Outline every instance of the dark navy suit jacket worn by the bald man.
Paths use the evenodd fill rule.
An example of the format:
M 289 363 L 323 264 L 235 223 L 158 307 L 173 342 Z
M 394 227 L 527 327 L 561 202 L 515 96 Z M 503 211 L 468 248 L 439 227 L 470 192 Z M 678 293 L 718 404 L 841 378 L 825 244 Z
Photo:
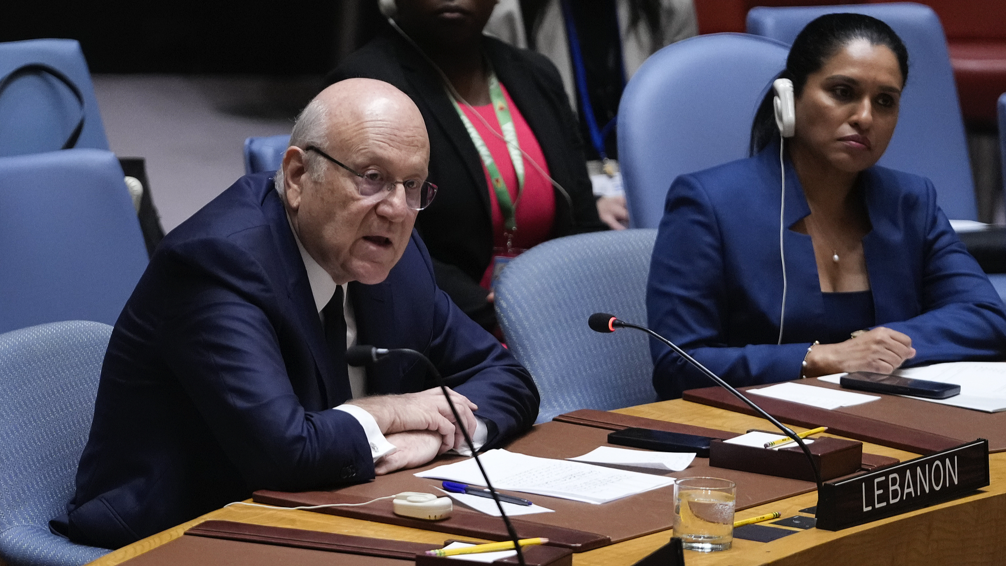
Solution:
M 438 289 L 414 232 L 385 281 L 349 293 L 358 343 L 430 357 L 479 406 L 488 445 L 534 422 L 527 371 Z M 116 322 L 76 494 L 53 528 L 118 548 L 255 489 L 372 478 L 362 427 L 331 410 L 349 391 L 326 395 L 333 371 L 272 173 L 242 177 L 165 238 Z M 367 378 L 378 394 L 435 386 L 404 357 Z

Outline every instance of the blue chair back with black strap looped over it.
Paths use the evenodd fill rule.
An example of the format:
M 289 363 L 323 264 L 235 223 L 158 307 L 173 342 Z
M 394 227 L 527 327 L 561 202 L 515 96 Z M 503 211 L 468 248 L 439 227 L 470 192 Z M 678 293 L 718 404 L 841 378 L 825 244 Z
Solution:
M 81 110 L 83 126 L 75 147 L 109 149 L 80 44 L 73 39 L 0 43 L 0 80 L 32 63 L 62 74 L 79 91 L 82 109 L 73 91 L 52 75 L 34 70 L 17 76 L 0 92 L 0 156 L 62 148 Z

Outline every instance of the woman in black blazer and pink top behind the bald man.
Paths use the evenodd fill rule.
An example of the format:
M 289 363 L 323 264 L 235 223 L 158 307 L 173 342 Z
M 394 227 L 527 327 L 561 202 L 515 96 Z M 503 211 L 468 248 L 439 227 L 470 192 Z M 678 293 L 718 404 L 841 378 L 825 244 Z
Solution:
M 396 26 L 328 77 L 385 81 L 415 101 L 430 135 L 429 179 L 439 186 L 415 227 L 438 285 L 489 329 L 496 326 L 489 281 L 503 258 L 544 240 L 605 229 L 558 72 L 538 53 L 482 34 L 495 4 L 396 0 Z M 500 124 L 511 119 L 516 134 L 507 137 Z M 487 151 L 491 166 L 482 157 Z M 492 191 L 490 176 L 502 177 Z

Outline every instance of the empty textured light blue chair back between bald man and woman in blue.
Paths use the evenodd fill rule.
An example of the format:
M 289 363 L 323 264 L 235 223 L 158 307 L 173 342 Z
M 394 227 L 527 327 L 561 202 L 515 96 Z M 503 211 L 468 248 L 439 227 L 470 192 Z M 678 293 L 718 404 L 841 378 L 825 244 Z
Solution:
M 657 401 L 646 335 L 599 334 L 586 325 L 595 312 L 645 323 L 656 237 L 656 230 L 626 230 L 559 238 L 500 274 L 497 317 L 510 351 L 538 386 L 538 422 Z

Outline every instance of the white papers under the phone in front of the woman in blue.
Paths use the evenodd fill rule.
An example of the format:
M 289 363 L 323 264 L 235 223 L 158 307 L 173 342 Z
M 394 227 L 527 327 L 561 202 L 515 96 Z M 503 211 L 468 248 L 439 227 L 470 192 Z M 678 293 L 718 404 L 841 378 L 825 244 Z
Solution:
M 841 385 L 845 374 L 821 376 L 823 382 Z M 1006 363 L 1003 362 L 953 362 L 934 364 L 924 368 L 897 370 L 895 376 L 912 380 L 926 380 L 961 386 L 961 394 L 950 399 L 911 397 L 941 405 L 952 405 L 986 413 L 1006 411 Z M 910 397 L 910 396 L 904 396 Z

